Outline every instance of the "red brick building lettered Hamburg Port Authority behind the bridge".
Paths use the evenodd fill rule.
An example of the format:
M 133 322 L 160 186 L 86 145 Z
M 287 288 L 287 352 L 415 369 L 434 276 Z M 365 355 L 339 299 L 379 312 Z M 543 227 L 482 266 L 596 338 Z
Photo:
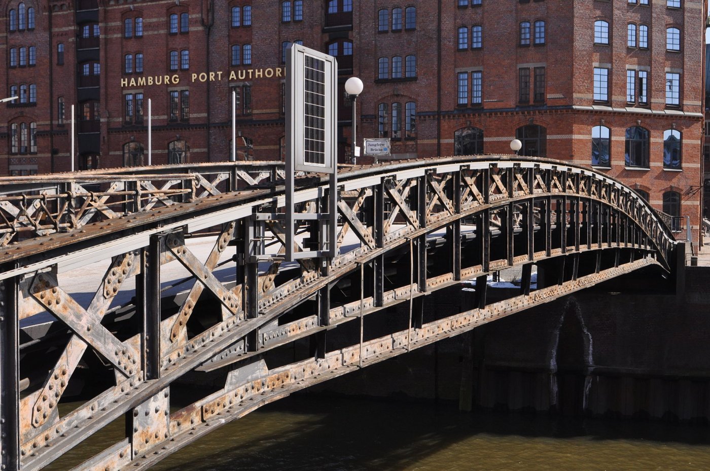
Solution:
M 392 158 L 520 153 L 591 165 L 699 225 L 704 0 L 10 0 L 0 174 L 278 159 L 284 51 L 356 75 L 359 135 Z M 349 100 L 339 152 L 349 161 Z

